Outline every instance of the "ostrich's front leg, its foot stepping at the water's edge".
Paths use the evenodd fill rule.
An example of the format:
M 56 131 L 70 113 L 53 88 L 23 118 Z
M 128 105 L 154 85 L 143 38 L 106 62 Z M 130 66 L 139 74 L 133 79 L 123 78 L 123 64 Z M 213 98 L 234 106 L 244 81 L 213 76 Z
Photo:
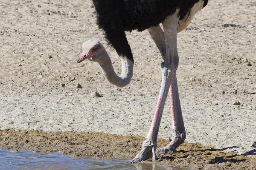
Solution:
M 157 108 L 154 114 L 153 121 L 151 123 L 150 130 L 148 132 L 145 141 L 142 144 L 142 150 L 135 156 L 130 163 L 137 163 L 143 160 L 147 160 L 152 156 L 152 159 L 157 160 L 156 156 L 156 147 L 157 147 L 157 135 L 159 131 L 159 126 L 163 114 L 163 108 L 166 102 L 166 97 L 168 90 L 170 88 L 172 79 L 175 77 L 175 71 L 178 66 L 178 57 L 177 57 L 177 26 L 179 22 L 179 17 L 177 13 L 169 16 L 163 22 L 164 28 L 164 38 L 166 40 L 166 51 L 165 56 L 163 57 L 164 62 L 161 63 L 162 71 L 162 83 L 160 88 L 160 94 L 158 97 Z M 152 28 L 160 30 L 159 27 Z M 151 31 L 151 30 L 149 30 Z M 159 34 L 162 36 L 162 34 Z M 163 39 L 163 38 L 160 38 Z M 160 42 L 159 40 L 157 42 Z M 162 44 L 163 45 L 163 44 Z M 163 51 L 161 52 L 161 54 Z M 176 94 L 176 93 L 175 93 Z

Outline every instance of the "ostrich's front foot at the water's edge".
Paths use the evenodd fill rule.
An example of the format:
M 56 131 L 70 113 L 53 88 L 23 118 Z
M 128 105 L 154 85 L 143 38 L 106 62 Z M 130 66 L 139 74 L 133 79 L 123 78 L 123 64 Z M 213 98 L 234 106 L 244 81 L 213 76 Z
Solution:
M 142 149 L 137 153 L 135 158 L 130 161 L 130 164 L 136 164 L 150 159 L 151 157 L 154 161 L 157 160 L 156 143 L 146 139 L 142 144 Z

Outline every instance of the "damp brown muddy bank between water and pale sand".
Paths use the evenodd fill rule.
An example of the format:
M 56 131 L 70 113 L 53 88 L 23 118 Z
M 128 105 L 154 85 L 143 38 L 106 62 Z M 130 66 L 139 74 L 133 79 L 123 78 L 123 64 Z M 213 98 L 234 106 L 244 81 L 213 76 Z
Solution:
M 67 153 L 71 156 L 95 156 L 102 159 L 132 159 L 140 150 L 143 137 L 121 136 L 92 132 L 42 132 L 36 130 L 0 130 L 3 149 L 33 150 L 36 152 Z M 169 141 L 158 140 L 158 146 Z M 223 153 L 221 150 L 198 143 L 182 144 L 177 153 L 159 155 L 158 162 L 192 169 L 256 170 L 256 156 Z M 149 160 L 150 161 L 150 160 Z

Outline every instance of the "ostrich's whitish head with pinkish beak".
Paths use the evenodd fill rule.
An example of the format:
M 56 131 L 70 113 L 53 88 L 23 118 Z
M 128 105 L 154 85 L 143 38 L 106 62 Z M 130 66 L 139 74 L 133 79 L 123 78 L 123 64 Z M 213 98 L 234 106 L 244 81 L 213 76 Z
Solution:
M 102 60 L 104 51 L 105 49 L 99 42 L 99 39 L 93 38 L 91 40 L 85 41 L 82 45 L 82 54 L 77 62 L 82 62 L 84 59 L 99 62 Z

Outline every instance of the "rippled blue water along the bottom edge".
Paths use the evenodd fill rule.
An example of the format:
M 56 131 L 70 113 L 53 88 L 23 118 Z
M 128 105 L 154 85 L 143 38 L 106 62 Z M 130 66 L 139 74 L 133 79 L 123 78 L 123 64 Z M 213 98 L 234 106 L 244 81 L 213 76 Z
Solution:
M 71 158 L 61 153 L 33 153 L 21 150 L 0 150 L 0 170 L 184 170 L 170 165 L 140 163 L 131 165 L 127 160 Z

